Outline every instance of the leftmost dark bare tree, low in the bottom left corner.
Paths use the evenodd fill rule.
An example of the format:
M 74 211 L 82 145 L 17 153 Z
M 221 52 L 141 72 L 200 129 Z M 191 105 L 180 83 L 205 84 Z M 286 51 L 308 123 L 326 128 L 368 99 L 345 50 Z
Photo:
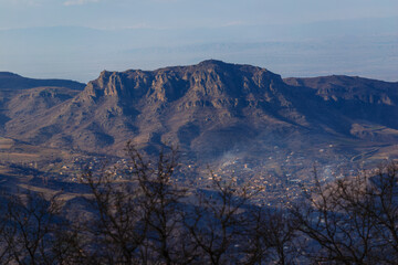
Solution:
M 61 258 L 53 248 L 54 231 L 60 226 L 57 194 L 45 198 L 28 191 L 7 198 L 1 234 L 11 264 L 55 264 Z

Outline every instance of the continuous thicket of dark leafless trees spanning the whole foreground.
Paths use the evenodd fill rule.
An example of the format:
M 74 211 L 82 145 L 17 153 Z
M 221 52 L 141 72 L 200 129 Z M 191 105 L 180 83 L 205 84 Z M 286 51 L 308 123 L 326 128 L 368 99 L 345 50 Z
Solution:
M 3 195 L 0 263 L 398 264 L 397 163 L 324 184 L 315 172 L 293 206 L 262 208 L 260 189 L 212 172 L 209 189 L 177 186 L 174 148 L 155 162 L 126 150 L 129 162 L 84 171 L 84 210 L 59 194 Z

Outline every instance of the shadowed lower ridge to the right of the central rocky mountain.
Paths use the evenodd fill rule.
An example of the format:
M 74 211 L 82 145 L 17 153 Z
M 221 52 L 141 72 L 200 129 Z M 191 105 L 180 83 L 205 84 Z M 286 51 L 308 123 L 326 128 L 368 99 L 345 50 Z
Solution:
M 373 139 L 378 134 L 377 139 L 385 140 L 397 137 L 388 131 L 398 129 L 398 83 L 336 75 L 285 78 L 284 82 L 298 88 L 314 89 L 329 112 L 349 119 L 349 134 L 353 136 Z M 369 129 L 376 125 L 386 129 Z

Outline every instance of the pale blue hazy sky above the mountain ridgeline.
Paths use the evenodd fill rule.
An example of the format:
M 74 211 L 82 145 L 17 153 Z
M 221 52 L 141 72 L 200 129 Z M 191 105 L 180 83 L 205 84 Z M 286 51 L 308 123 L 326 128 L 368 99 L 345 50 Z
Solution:
M 88 82 L 207 59 L 398 81 L 398 1 L 0 0 L 0 71 Z

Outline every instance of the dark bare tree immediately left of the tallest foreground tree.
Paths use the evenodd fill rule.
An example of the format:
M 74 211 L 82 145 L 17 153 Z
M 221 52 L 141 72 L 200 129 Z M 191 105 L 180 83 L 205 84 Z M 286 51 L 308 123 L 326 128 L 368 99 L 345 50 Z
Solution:
M 81 248 L 96 264 L 136 264 L 147 236 L 137 184 L 130 174 L 118 177 L 105 170 L 95 176 L 88 170 L 82 178 L 90 187 L 93 208 L 83 229 L 91 241 Z

